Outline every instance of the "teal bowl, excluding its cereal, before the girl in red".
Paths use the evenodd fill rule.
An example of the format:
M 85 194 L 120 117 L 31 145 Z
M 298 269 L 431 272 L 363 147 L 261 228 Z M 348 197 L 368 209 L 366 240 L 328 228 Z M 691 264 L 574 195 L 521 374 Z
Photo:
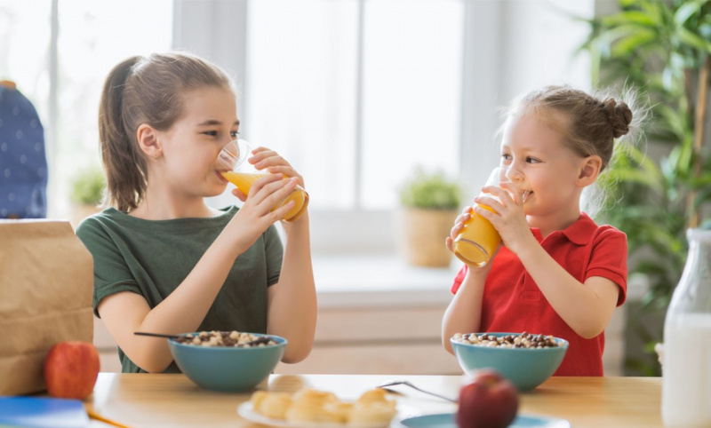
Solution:
M 488 336 L 521 336 L 518 333 L 486 333 Z M 531 391 L 555 373 L 568 351 L 568 341 L 555 337 L 558 346 L 549 348 L 504 348 L 471 345 L 450 339 L 459 366 L 474 375 L 478 369 L 495 369 L 519 391 Z

